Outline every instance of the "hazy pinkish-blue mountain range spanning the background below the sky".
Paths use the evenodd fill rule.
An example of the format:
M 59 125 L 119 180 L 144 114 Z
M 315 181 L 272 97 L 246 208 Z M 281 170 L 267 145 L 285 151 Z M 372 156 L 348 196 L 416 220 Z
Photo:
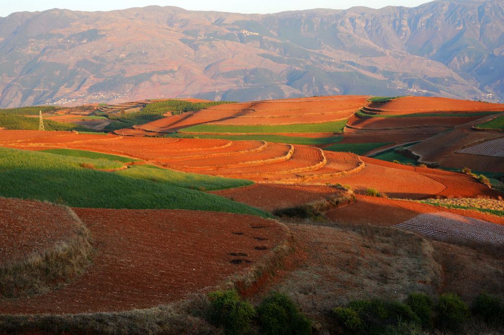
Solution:
M 504 102 L 504 0 L 14 13 L 0 18 L 0 92 L 0 107 L 340 94 Z

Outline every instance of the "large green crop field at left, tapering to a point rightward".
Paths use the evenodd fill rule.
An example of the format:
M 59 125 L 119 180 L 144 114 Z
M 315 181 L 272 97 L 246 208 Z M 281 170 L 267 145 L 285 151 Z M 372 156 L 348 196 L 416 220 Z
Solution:
M 213 194 L 174 186 L 169 180 L 155 182 L 87 169 L 81 167 L 82 162 L 95 166 L 101 163 L 118 164 L 105 159 L 0 148 L 0 196 L 47 200 L 73 207 L 191 209 L 270 217 L 270 214 L 260 209 Z M 212 180 L 214 178 L 211 177 Z M 223 182 L 229 186 L 229 181 Z M 198 181 L 195 181 L 194 187 L 199 186 Z

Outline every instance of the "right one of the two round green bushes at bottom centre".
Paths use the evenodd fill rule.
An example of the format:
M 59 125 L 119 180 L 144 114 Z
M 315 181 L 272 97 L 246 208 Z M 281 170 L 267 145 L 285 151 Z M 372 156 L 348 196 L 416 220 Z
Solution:
M 310 334 L 311 320 L 297 309 L 287 295 L 272 293 L 257 308 L 264 334 Z

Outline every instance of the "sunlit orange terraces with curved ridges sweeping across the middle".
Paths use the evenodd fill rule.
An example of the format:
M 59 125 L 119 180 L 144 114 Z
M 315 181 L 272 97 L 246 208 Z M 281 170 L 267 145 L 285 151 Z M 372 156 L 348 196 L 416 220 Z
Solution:
M 353 153 L 323 151 L 316 147 L 224 139 L 139 138 L 74 133 L 46 133 L 45 137 L 38 137 L 39 134 L 22 131 L 16 134 L 19 139 L 15 139 L 16 136 L 10 131 L 0 132 L 0 145 L 30 150 L 68 148 L 118 154 L 163 168 L 260 183 L 339 183 L 348 184 L 361 193 L 372 187 L 389 196 L 413 199 L 435 195 L 498 195 L 463 174 L 432 169 L 417 171 L 410 166 L 361 158 Z

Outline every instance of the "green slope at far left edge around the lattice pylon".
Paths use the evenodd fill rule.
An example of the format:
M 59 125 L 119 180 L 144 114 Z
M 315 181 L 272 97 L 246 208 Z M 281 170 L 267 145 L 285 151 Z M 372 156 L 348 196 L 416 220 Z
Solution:
M 38 130 L 38 118 L 36 117 L 26 117 L 22 115 L 14 115 L 14 114 L 2 114 L 0 113 L 0 127 L 6 129 L 27 129 L 27 130 Z M 44 120 L 44 128 L 45 130 L 78 130 L 78 131 L 86 131 L 89 130 L 86 127 L 56 122 L 51 120 Z

